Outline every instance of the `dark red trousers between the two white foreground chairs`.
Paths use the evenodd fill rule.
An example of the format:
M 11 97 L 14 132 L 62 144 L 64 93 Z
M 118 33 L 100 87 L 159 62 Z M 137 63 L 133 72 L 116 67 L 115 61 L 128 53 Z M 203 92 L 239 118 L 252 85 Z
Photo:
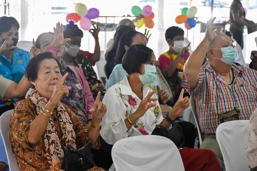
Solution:
M 211 150 L 184 147 L 179 150 L 185 171 L 222 171 Z

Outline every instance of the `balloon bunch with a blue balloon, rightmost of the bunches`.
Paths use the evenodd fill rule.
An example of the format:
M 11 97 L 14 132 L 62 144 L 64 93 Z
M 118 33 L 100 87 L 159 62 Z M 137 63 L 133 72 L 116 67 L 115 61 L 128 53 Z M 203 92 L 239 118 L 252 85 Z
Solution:
M 197 13 L 196 7 L 182 8 L 181 15 L 177 16 L 175 18 L 175 21 L 177 24 L 185 23 L 186 29 L 190 30 L 191 28 L 195 27 L 197 24 L 197 21 L 194 19 L 194 16 L 196 13 Z

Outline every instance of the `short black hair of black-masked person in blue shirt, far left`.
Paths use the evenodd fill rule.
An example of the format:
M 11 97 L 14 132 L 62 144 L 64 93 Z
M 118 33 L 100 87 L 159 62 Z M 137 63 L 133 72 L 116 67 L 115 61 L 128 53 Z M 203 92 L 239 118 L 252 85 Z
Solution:
M 14 17 L 2 16 L 0 17 L 0 23 L 0 34 L 9 31 L 12 25 L 18 29 L 20 28 L 20 24 Z

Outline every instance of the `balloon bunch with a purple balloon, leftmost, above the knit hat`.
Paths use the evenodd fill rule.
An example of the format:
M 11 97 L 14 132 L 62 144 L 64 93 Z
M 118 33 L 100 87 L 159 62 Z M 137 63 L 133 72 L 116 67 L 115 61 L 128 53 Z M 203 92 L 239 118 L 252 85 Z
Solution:
M 74 23 L 80 21 L 80 27 L 83 30 L 89 30 L 91 27 L 90 19 L 99 17 L 99 11 L 96 8 L 90 8 L 87 10 L 86 5 L 77 3 L 75 6 L 76 13 L 70 13 L 66 16 L 67 23 L 69 20 L 73 20 Z

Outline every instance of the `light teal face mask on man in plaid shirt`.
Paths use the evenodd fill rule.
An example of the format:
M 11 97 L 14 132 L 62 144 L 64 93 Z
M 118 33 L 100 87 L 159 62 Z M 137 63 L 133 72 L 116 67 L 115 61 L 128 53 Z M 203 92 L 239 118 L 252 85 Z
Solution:
M 214 48 L 212 48 L 214 49 Z M 236 59 L 236 51 L 232 46 L 220 48 L 222 52 L 222 58 L 216 58 L 220 59 L 221 61 L 225 62 L 228 65 L 232 65 L 233 62 L 235 62 Z M 215 58 L 215 57 L 213 57 Z

